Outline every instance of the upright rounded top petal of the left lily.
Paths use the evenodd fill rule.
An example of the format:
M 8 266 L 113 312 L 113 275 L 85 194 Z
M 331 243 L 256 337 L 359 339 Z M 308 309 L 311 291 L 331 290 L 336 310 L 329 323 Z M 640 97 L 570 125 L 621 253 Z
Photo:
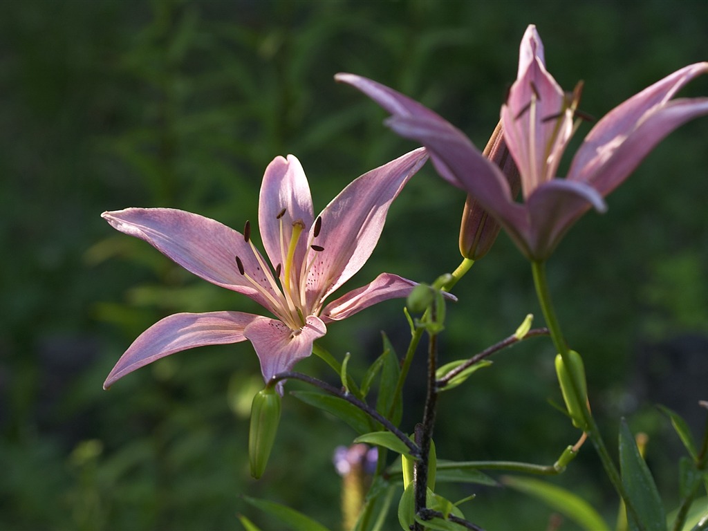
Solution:
M 285 214 L 277 219 L 282 209 L 285 209 Z M 307 234 L 313 219 L 312 195 L 300 161 L 293 155 L 288 155 L 287 160 L 282 156 L 275 157 L 265 169 L 258 202 L 258 229 L 273 267 L 279 263 L 285 265 L 293 222 L 302 221 L 306 229 L 304 233 Z M 306 249 L 307 238 L 302 237 L 297 242 L 295 263 L 302 263 Z

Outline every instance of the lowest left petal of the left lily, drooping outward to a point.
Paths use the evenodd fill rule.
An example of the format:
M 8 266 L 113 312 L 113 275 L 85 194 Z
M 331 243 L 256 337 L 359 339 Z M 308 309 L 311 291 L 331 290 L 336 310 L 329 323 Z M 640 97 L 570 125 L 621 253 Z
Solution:
M 174 314 L 141 333 L 120 357 L 103 389 L 144 365 L 189 348 L 246 341 L 244 329 L 259 316 L 243 312 Z

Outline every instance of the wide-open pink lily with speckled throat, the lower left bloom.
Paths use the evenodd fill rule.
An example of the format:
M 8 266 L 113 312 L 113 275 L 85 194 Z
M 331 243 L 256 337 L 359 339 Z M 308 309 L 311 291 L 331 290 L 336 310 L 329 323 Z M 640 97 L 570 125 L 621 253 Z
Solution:
M 275 318 L 244 312 L 175 314 L 144 331 L 103 384 L 167 355 L 205 345 L 249 340 L 266 382 L 312 353 L 326 324 L 395 297 L 415 282 L 382 273 L 373 282 L 324 305 L 371 256 L 389 205 L 428 158 L 419 148 L 369 171 L 314 217 L 307 178 L 295 156 L 276 157 L 261 185 L 258 225 L 270 264 L 243 234 L 213 219 L 168 208 L 104 212 L 115 229 L 147 241 L 212 284 L 250 297 Z M 282 385 L 280 385 L 282 391 Z

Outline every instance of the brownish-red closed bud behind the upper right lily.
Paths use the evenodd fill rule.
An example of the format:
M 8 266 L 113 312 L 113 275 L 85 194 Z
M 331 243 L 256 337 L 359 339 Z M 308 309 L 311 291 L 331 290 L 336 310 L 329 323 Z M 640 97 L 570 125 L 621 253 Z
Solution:
M 516 197 L 521 188 L 521 178 L 506 147 L 501 121 L 491 134 L 482 154 L 499 166 L 510 185 L 512 197 Z M 500 228 L 496 219 L 493 219 L 472 195 L 467 195 L 459 228 L 459 252 L 464 258 L 479 260 L 491 249 Z

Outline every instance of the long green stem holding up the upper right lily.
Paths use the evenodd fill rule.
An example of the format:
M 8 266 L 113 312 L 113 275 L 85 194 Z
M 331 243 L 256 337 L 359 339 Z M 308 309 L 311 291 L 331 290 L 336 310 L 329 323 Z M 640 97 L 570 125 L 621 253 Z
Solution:
M 551 296 L 548 290 L 548 282 L 546 280 L 545 263 L 532 262 L 531 268 L 533 272 L 533 280 L 536 286 L 538 302 L 541 305 L 543 316 L 546 319 L 546 324 L 551 333 L 551 338 L 553 339 L 553 344 L 556 347 L 556 351 L 561 355 L 561 358 L 563 358 L 563 362 L 566 366 L 569 366 L 569 348 L 563 337 L 563 333 L 561 332 L 561 326 L 558 318 L 556 317 L 556 312 L 551 301 Z M 579 392 L 580 390 L 577 389 L 574 379 L 571 379 L 571 388 L 573 393 L 576 395 L 576 401 L 578 401 L 579 404 L 584 404 L 585 398 L 581 397 Z M 595 451 L 597 451 L 600 456 L 600 461 L 603 463 L 607 477 L 610 478 L 612 485 L 615 486 L 615 490 L 617 490 L 619 497 L 624 500 L 625 506 L 627 507 L 629 513 L 634 515 L 634 520 L 637 522 L 641 521 L 639 518 L 636 518 L 636 509 L 634 508 L 632 501 L 629 499 L 629 496 L 627 496 L 627 491 L 624 490 L 622 479 L 619 476 L 615 463 L 612 462 L 610 452 L 607 451 L 605 441 L 603 441 L 602 434 L 600 433 L 600 428 L 598 428 L 597 423 L 595 423 L 595 418 L 593 418 L 590 410 L 586 406 L 584 406 L 581 411 L 583 413 L 583 420 L 585 421 L 587 427 L 586 433 L 588 433 L 588 437 L 593 442 Z

